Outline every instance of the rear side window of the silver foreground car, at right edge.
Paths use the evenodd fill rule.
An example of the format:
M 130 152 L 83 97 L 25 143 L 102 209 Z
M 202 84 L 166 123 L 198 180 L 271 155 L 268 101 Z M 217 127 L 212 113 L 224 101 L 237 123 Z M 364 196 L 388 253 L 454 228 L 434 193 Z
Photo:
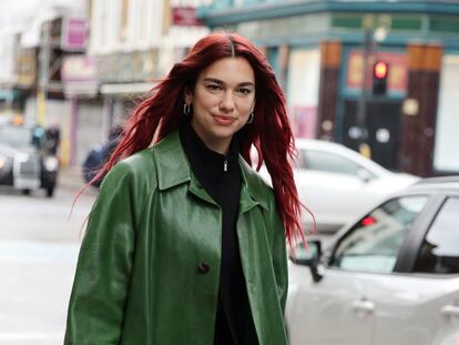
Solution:
M 419 251 L 415 272 L 459 273 L 459 197 L 449 197 L 435 217 Z

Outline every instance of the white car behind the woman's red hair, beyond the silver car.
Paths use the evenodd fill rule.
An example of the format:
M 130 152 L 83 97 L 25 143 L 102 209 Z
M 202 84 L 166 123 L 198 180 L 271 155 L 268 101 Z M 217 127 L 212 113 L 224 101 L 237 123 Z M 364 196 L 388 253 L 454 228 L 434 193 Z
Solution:
M 317 230 L 334 233 L 384 196 L 419 180 L 388 171 L 338 143 L 297 139 L 298 160 L 294 169 L 299 199 L 316 217 Z M 262 176 L 271 183 L 266 168 Z M 310 229 L 312 217 L 303 212 Z

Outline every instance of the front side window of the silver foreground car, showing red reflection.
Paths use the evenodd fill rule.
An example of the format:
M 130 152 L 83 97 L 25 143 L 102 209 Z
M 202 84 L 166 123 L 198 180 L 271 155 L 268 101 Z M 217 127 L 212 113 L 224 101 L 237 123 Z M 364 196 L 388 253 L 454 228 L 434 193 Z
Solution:
M 344 271 L 392 272 L 405 236 L 427 199 L 402 196 L 375 209 L 339 241 L 330 266 Z

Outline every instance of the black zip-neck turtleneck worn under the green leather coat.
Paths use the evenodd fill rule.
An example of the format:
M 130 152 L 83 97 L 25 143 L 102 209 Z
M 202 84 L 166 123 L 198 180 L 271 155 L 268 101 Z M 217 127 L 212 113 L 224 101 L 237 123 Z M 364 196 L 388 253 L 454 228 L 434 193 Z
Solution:
M 208 149 L 190 123 L 181 126 L 180 138 L 194 175 L 222 209 L 222 262 L 214 345 L 257 344 L 236 233 L 242 183 L 237 136 L 233 136 L 226 156 Z

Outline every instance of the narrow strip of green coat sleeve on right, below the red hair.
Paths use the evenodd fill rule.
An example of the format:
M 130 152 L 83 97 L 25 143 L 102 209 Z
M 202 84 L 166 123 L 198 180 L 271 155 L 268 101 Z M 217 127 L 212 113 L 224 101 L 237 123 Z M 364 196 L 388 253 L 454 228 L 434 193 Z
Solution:
M 273 224 L 273 267 L 277 283 L 277 296 L 284 315 L 288 292 L 287 247 L 284 223 L 275 206 L 274 195 L 271 206 L 271 224 Z

